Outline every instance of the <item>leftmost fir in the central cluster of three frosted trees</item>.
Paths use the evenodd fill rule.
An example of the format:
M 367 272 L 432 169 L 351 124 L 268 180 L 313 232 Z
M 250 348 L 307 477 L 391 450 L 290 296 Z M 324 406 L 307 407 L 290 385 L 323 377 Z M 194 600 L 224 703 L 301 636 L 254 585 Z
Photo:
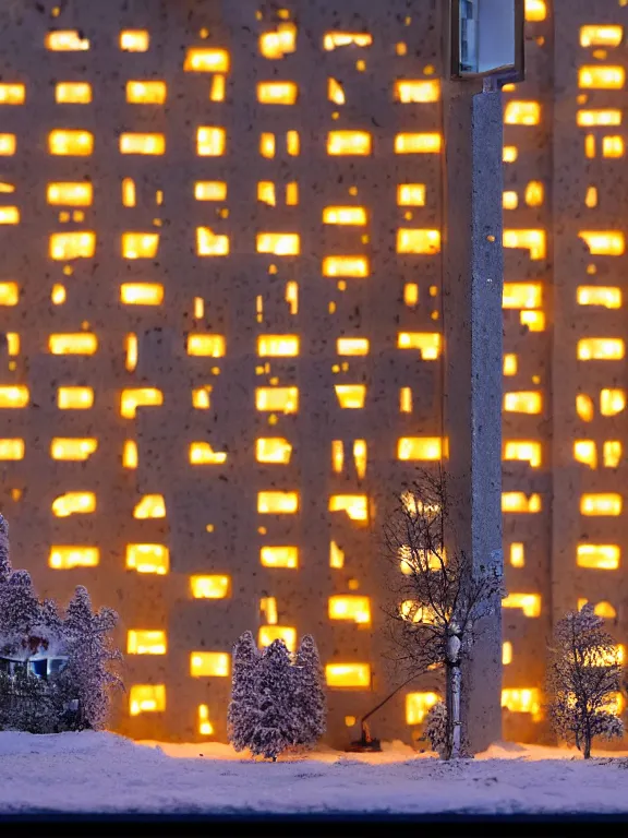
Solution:
M 259 651 L 251 632 L 244 632 L 233 646 L 231 702 L 227 711 L 227 733 L 235 751 L 250 749 L 258 715 L 256 668 Z

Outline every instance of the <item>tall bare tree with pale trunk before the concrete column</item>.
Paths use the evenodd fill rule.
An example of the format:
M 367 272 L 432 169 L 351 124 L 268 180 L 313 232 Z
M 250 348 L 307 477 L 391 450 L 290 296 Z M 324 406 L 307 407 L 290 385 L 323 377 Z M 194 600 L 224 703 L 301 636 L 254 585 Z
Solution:
M 385 556 L 396 566 L 388 609 L 394 656 L 416 675 L 445 670 L 447 737 L 443 757 L 462 752 L 462 662 L 478 637 L 478 621 L 500 607 L 502 574 L 474 566 L 458 549 L 447 476 L 421 471 L 384 525 Z

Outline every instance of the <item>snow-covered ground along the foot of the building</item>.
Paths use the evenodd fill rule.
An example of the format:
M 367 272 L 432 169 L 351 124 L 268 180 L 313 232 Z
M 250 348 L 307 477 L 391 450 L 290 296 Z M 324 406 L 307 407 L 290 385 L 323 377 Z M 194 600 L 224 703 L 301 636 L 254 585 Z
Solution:
M 444 764 L 399 743 L 278 763 L 227 745 L 0 732 L 0 813 L 628 813 L 628 755 L 503 744 Z

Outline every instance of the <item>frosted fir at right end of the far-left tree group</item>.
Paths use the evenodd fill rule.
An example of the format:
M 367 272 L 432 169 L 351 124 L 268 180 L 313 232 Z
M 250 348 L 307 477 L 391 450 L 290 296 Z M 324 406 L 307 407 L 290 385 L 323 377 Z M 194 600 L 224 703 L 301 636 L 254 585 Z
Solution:
M 120 678 L 111 671 L 111 662 L 121 660 L 114 648 L 111 632 L 118 614 L 110 608 L 92 610 L 87 589 L 78 585 L 68 604 L 63 634 L 68 648 L 68 675 L 76 691 L 80 726 L 98 730 L 109 711 L 110 692 L 122 686 Z

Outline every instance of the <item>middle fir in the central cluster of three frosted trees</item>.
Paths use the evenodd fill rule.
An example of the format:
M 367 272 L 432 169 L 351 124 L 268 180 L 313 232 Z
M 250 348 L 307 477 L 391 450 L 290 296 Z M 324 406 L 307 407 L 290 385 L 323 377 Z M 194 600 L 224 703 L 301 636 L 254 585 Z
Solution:
M 299 720 L 293 702 L 290 655 L 283 641 L 273 641 L 256 667 L 257 718 L 251 751 L 276 762 L 297 741 Z

